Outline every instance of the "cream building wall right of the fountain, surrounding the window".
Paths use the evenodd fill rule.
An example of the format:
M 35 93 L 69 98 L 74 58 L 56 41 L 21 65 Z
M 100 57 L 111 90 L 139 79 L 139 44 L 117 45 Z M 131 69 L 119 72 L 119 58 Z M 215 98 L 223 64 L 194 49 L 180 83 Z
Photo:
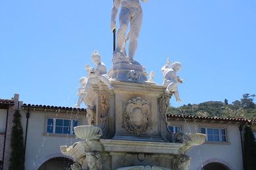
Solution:
M 191 170 L 200 169 L 210 162 L 223 163 L 232 170 L 243 169 L 242 146 L 240 141 L 239 125 L 214 124 L 214 123 L 191 123 L 184 121 L 173 121 L 173 125 L 181 125 L 182 130 L 188 133 L 200 133 L 200 127 L 223 127 L 226 128 L 227 143 L 205 142 L 200 146 L 194 146 L 188 155 L 192 157 Z

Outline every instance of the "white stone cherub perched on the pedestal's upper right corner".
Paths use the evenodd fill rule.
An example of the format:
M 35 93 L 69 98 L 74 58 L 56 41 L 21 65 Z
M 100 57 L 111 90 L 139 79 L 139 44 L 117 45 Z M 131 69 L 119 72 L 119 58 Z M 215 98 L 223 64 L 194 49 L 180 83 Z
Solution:
M 165 92 L 174 92 L 176 101 L 178 102 L 182 101 L 179 97 L 178 84 L 182 83 L 183 80 L 177 76 L 180 70 L 181 63 L 171 63 L 169 59 L 167 59 L 167 63 L 161 68 L 161 72 L 163 73 L 163 86 L 166 87 Z

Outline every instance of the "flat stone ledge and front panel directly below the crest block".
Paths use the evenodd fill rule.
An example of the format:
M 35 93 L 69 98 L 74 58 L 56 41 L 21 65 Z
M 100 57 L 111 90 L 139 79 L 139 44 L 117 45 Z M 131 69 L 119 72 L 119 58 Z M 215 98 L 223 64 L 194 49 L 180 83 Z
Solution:
M 142 141 L 121 141 L 100 139 L 104 152 L 108 153 L 110 167 L 103 169 L 117 169 L 135 165 L 150 165 L 173 169 L 175 155 L 184 144 L 155 143 Z M 104 160 L 104 158 L 102 158 Z M 106 161 L 107 162 L 107 161 Z

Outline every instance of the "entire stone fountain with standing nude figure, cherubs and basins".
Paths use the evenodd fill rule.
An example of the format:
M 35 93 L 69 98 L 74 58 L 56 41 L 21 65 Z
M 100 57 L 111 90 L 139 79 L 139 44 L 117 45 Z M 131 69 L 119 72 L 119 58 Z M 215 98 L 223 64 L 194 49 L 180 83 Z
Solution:
M 148 78 L 146 69 L 133 59 L 142 22 L 139 0 L 114 1 L 112 29 L 116 29 L 114 20 L 120 5 L 114 64 L 107 73 L 95 51 L 95 68 L 85 65 L 87 77 L 80 78 L 75 107 L 81 103 L 87 106 L 87 125 L 74 127 L 81 141 L 60 146 L 60 151 L 74 160 L 72 170 L 188 170 L 188 150 L 203 144 L 206 135 L 167 130 L 169 101 L 173 95 L 181 101 L 177 88 L 183 82 L 177 76 L 181 63 L 167 59 L 161 68 L 161 86 L 154 82 L 153 71 Z M 125 35 L 129 22 L 131 30 Z M 128 40 L 129 56 L 125 50 Z

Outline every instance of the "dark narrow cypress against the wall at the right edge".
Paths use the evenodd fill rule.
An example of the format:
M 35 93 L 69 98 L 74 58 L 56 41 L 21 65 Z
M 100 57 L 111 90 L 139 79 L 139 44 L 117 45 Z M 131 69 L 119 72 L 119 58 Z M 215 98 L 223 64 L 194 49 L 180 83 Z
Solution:
M 244 133 L 244 168 L 253 170 L 256 167 L 256 143 L 250 126 L 245 126 Z

